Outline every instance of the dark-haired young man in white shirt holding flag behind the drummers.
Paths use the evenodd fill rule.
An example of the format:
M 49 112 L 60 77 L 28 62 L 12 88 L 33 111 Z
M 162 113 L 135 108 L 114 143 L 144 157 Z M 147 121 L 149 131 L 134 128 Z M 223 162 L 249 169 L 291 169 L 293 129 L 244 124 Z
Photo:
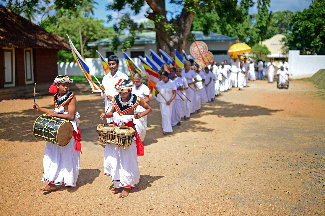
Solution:
M 103 78 L 102 85 L 99 87 L 102 90 L 101 96 L 104 98 L 105 102 L 105 112 L 110 112 L 113 107 L 113 103 L 111 102 L 112 98 L 118 94 L 115 89 L 115 84 L 120 79 L 129 79 L 129 77 L 118 70 L 119 67 L 119 58 L 116 55 L 110 55 L 108 57 L 108 67 L 110 68 L 110 72 L 106 74 Z M 107 123 L 113 121 L 113 117 L 106 118 Z

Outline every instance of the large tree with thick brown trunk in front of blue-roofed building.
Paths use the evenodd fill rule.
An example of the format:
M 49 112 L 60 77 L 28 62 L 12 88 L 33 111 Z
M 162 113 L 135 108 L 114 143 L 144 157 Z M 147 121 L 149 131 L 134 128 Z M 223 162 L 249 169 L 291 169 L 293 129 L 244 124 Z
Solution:
M 165 0 L 114 0 L 108 4 L 108 10 L 120 11 L 129 7 L 135 15 L 140 12 L 142 7 L 149 7 L 145 17 L 154 22 L 154 27 L 144 27 L 132 20 L 130 14 L 123 14 L 123 17 L 119 18 L 114 25 L 114 30 L 118 34 L 128 30 L 130 37 L 123 42 L 118 41 L 118 38 L 115 37 L 110 48 L 116 50 L 119 45 L 122 45 L 123 49 L 129 48 L 134 43 L 137 30 L 150 30 L 156 32 L 157 49 L 163 49 L 172 54 L 174 49 L 185 49 L 191 38 L 190 30 L 196 13 L 206 14 L 214 11 L 227 22 L 242 21 L 241 11 L 237 7 L 238 0 L 170 0 L 170 3 L 181 8 L 181 12 L 173 13 L 171 19 L 167 19 L 168 11 Z M 109 16 L 109 18 L 112 17 Z

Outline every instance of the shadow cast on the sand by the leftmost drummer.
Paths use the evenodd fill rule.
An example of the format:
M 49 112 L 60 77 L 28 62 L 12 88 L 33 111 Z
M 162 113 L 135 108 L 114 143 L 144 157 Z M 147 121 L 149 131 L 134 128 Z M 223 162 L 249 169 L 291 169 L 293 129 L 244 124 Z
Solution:
M 43 195 L 47 195 L 52 192 L 63 191 L 63 190 L 67 190 L 69 193 L 73 193 L 82 186 L 85 186 L 87 184 L 92 184 L 95 181 L 95 178 L 99 176 L 99 174 L 100 174 L 99 169 L 81 169 L 79 171 L 78 180 L 75 187 L 63 187 L 63 185 L 57 186 L 56 190 L 46 191 L 43 193 Z

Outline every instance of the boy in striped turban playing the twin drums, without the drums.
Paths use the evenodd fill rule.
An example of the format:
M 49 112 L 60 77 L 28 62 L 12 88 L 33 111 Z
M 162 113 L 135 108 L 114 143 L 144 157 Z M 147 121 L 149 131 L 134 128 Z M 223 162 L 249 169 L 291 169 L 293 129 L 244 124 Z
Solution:
M 139 96 L 131 93 L 133 82 L 127 79 L 120 79 L 114 86 L 118 94 L 112 97 L 113 106 L 109 113 L 102 113 L 100 119 L 113 118 L 116 126 L 134 127 L 133 119 L 139 119 L 152 111 L 152 108 Z M 137 105 L 145 110 L 136 113 Z M 114 144 L 106 144 L 104 150 L 104 174 L 112 178 L 112 193 L 119 192 L 119 197 L 127 197 L 131 187 L 139 183 L 140 171 L 138 168 L 137 155 L 144 154 L 143 144 L 136 132 L 135 139 L 129 147 L 122 148 Z

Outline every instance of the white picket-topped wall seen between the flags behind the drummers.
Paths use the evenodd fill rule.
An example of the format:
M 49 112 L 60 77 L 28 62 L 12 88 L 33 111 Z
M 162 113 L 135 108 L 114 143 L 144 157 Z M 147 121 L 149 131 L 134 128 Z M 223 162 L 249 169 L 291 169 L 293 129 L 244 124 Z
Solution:
M 136 63 L 138 67 L 144 72 L 144 67 L 141 64 L 139 58 L 132 58 L 132 60 Z M 105 71 L 103 69 L 100 58 L 85 58 L 86 64 L 90 68 L 90 73 L 95 74 L 96 76 L 104 76 Z M 125 59 L 119 59 L 119 70 L 127 75 L 130 75 L 129 69 L 126 65 Z M 83 75 L 81 70 L 79 69 L 76 62 L 61 62 L 58 63 L 58 74 L 64 74 L 67 76 L 78 76 Z

